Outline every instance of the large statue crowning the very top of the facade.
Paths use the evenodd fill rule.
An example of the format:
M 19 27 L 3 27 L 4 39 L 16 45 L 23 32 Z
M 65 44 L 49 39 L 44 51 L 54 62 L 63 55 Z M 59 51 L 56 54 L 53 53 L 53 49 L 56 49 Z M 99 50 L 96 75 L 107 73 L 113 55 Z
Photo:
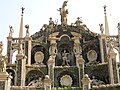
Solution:
M 64 1 L 62 8 L 59 8 L 58 11 L 60 11 L 61 15 L 61 24 L 66 25 L 67 24 L 67 14 L 68 14 L 68 9 L 65 9 L 65 6 L 67 6 L 68 1 Z

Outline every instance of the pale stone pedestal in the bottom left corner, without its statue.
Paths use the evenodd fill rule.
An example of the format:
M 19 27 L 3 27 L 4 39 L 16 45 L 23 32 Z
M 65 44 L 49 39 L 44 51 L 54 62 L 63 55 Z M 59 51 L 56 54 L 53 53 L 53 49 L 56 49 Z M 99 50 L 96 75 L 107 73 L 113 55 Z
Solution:
M 12 76 L 7 72 L 0 72 L 0 90 L 10 90 Z

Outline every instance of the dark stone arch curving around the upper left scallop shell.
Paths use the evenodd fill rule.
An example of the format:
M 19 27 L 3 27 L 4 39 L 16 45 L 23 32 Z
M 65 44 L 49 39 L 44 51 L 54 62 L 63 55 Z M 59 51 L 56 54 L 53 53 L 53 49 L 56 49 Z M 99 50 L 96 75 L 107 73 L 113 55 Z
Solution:
M 32 48 L 31 50 L 31 64 L 34 64 L 35 63 L 35 59 L 34 59 L 34 56 L 35 56 L 35 53 L 38 52 L 38 51 L 41 51 L 43 54 L 44 54 L 44 59 L 43 59 L 43 64 L 47 65 L 47 60 L 48 60 L 48 56 L 49 56 L 49 52 L 48 50 L 42 46 L 42 45 L 36 45 Z

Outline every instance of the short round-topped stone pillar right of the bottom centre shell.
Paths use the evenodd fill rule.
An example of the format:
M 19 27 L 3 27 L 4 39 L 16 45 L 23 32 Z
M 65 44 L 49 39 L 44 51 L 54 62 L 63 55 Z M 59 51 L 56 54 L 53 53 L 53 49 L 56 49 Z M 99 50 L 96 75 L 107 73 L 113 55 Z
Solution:
M 83 86 L 83 90 L 90 90 L 91 89 L 91 80 L 88 77 L 87 74 L 85 74 L 82 78 L 82 86 Z

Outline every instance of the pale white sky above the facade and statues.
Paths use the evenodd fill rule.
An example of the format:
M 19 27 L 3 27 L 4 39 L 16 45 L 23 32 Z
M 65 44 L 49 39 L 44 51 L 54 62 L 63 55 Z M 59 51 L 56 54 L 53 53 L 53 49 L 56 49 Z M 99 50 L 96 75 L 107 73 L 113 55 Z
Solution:
M 13 26 L 14 37 L 19 35 L 21 7 L 24 7 L 24 25 L 29 24 L 30 34 L 39 31 L 43 24 L 48 24 L 49 18 L 60 23 L 57 11 L 64 0 L 0 0 L 0 41 L 4 44 L 4 53 L 9 33 L 9 25 Z M 74 23 L 77 17 L 82 17 L 83 23 L 96 33 L 100 33 L 99 24 L 104 23 L 103 6 L 107 6 L 110 34 L 117 35 L 117 23 L 120 22 L 120 0 L 68 0 L 68 24 Z M 25 35 L 25 28 L 24 28 Z M 6 53 L 5 53 L 6 54 Z

